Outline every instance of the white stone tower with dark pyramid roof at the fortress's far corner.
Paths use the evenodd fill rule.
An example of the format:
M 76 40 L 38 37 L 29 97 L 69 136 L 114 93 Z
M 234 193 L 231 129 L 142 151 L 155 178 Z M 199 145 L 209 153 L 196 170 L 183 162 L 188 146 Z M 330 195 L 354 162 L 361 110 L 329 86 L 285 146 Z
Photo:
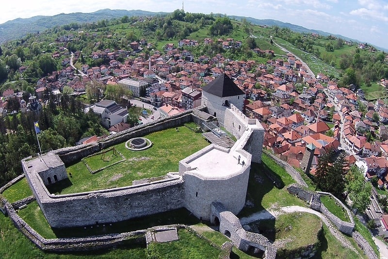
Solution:
M 224 123 L 225 110 L 230 104 L 242 111 L 244 92 L 225 73 L 202 88 L 202 105 L 210 115 Z

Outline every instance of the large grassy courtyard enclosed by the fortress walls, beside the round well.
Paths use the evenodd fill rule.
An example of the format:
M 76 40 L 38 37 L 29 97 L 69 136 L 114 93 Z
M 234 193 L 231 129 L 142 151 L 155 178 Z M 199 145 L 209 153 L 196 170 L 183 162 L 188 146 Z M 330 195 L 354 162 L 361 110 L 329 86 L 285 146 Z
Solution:
M 125 143 L 115 146 L 126 161 L 91 174 L 82 161 L 66 168 L 71 173 L 69 180 L 60 188 L 53 186 L 55 193 L 65 194 L 81 191 L 102 190 L 132 185 L 133 180 L 159 177 L 168 172 L 178 172 L 179 160 L 192 155 L 209 143 L 201 133 L 194 133 L 187 127 L 166 129 L 145 136 L 153 146 L 144 151 L 130 151 Z M 93 157 L 93 156 L 92 156 Z M 100 159 L 101 154 L 91 159 Z M 121 157 L 119 158 L 121 159 Z M 107 162 L 109 163 L 109 162 Z

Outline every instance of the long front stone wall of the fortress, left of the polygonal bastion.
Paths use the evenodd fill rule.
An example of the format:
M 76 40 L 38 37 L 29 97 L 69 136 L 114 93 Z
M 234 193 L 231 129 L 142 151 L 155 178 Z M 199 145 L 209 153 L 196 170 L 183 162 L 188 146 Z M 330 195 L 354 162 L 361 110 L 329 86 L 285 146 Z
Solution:
M 37 197 L 50 226 L 58 228 L 118 222 L 184 207 L 181 177 L 127 188 Z

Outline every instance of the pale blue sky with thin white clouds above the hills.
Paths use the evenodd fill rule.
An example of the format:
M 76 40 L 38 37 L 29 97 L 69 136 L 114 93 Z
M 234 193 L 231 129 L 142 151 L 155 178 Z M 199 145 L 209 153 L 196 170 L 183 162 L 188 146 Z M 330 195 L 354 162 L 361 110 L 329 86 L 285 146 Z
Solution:
M 19 0 L 1 5 L 0 24 L 16 18 L 100 9 L 173 12 L 181 0 Z M 184 0 L 189 13 L 275 19 L 388 49 L 388 0 Z

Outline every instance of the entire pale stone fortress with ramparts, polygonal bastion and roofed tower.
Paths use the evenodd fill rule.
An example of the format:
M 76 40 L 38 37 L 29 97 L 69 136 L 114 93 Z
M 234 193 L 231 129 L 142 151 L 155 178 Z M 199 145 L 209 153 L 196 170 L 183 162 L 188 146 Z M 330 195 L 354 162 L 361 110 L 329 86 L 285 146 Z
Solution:
M 242 90 L 224 74 L 203 87 L 203 105 L 199 109 L 136 126 L 98 143 L 23 159 L 26 179 L 49 225 L 64 228 L 112 223 L 182 207 L 198 219 L 211 222 L 215 219 L 214 207 L 220 208 L 229 213 L 225 220 L 217 218 L 223 221 L 224 228 L 231 222 L 239 222 L 234 215 L 245 205 L 250 165 L 251 162 L 261 162 L 264 137 L 264 129 L 259 121 L 243 115 L 243 97 Z M 202 125 L 209 119 L 214 120 L 214 117 L 237 138 L 234 145 L 225 148 L 210 144 L 181 160 L 179 172 L 168 173 L 162 180 L 60 195 L 51 194 L 47 189 L 51 183 L 67 178 L 65 165 L 79 161 L 82 157 L 185 122 L 194 121 Z M 230 225 L 227 231 L 233 232 L 233 227 Z M 241 233 L 244 232 L 241 224 L 239 229 Z M 259 234 L 251 234 L 264 238 Z M 243 240 L 240 235 L 235 244 L 238 247 L 242 247 L 242 244 L 246 246 Z M 254 240 L 258 239 L 249 243 L 254 244 Z M 271 246 L 268 240 L 264 243 Z M 273 247 L 255 247 L 266 251 L 266 254 L 267 250 L 271 250 L 268 258 L 275 256 Z

